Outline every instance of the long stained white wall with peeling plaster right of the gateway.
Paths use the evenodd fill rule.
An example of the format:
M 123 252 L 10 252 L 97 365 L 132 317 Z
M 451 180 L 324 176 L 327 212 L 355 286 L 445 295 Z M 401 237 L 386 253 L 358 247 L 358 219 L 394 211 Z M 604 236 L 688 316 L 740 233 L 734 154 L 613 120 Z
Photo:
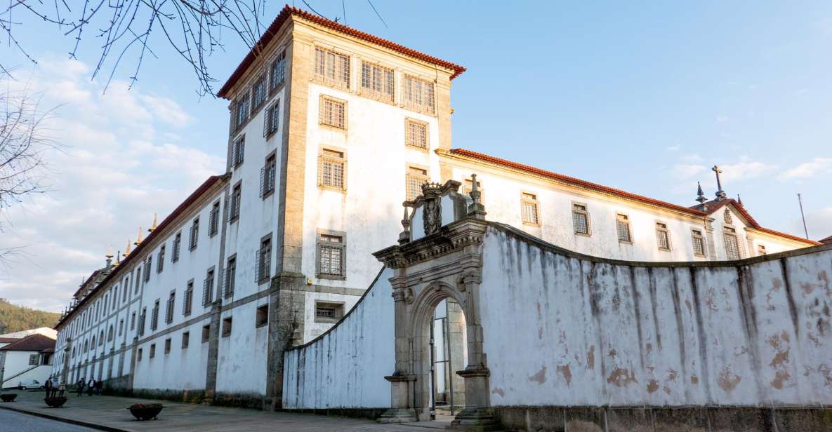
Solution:
M 492 405 L 829 405 L 832 248 L 794 255 L 646 267 L 488 228 Z

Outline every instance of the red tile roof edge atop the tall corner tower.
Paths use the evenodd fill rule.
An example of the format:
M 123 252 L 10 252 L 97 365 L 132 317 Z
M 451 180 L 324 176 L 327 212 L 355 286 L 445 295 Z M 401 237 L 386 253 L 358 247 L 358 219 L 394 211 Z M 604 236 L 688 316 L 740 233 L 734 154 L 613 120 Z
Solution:
M 344 26 L 344 24 L 339 24 L 338 22 L 330 21 L 324 17 L 319 17 L 314 13 L 306 12 L 299 7 L 291 7 L 288 4 L 283 7 L 283 10 L 275 17 L 275 21 L 271 22 L 271 25 L 265 32 L 263 32 L 263 36 L 260 37 L 260 40 L 257 41 L 255 46 L 251 48 L 251 51 L 248 55 L 243 58 L 243 61 L 240 61 L 240 65 L 234 70 L 231 76 L 228 78 L 228 81 L 225 81 L 225 84 L 220 88 L 220 91 L 217 92 L 216 96 L 218 97 L 225 97 L 227 96 L 228 91 L 231 90 L 238 80 L 245 74 L 245 71 L 248 70 L 249 66 L 260 56 L 260 53 L 263 52 L 263 49 L 269 45 L 269 42 L 277 35 L 277 32 L 280 30 L 280 27 L 283 27 L 283 23 L 286 22 L 287 19 L 290 17 L 301 17 L 307 21 L 314 22 L 320 26 L 329 27 L 330 29 L 336 32 L 342 32 L 346 35 L 356 37 L 362 39 L 367 42 L 372 42 L 376 45 L 380 45 L 382 47 L 388 48 L 392 51 L 399 52 L 404 54 L 405 56 L 411 56 L 417 60 L 426 61 L 428 63 L 432 63 L 437 66 L 442 66 L 446 69 L 450 69 L 453 71 L 453 75 L 451 75 L 451 79 L 456 78 L 457 76 L 461 75 L 465 68 L 463 66 L 459 66 L 454 64 L 450 61 L 442 60 L 441 58 L 429 56 L 423 52 L 418 52 L 414 49 L 409 47 L 404 47 L 403 45 L 399 45 L 396 42 L 388 41 L 387 39 L 383 39 L 381 37 L 373 36 L 369 33 L 362 32 L 360 30 L 356 30 L 353 27 Z

